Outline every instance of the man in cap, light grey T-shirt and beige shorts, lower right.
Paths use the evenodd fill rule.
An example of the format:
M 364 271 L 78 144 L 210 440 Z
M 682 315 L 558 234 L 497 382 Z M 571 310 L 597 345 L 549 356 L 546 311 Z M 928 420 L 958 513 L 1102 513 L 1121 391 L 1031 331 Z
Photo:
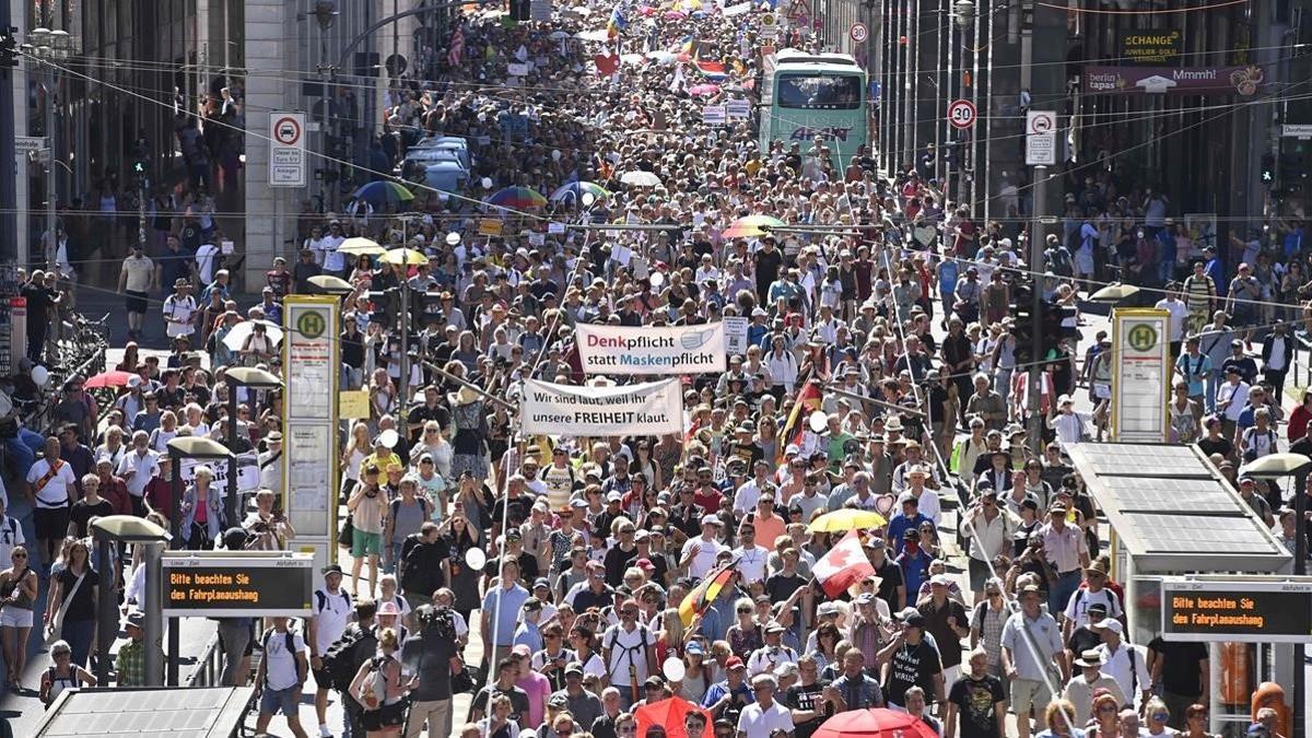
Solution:
M 1021 587 L 1019 600 L 1021 611 L 1013 613 L 1002 626 L 1002 672 L 1012 680 L 1015 729 L 1021 738 L 1029 738 L 1031 709 L 1036 730 L 1047 727 L 1043 708 L 1054 695 L 1044 678 L 1056 671 L 1061 675 L 1061 684 L 1071 678 L 1071 670 L 1061 647 L 1057 621 L 1043 612 L 1039 587 L 1025 584 Z

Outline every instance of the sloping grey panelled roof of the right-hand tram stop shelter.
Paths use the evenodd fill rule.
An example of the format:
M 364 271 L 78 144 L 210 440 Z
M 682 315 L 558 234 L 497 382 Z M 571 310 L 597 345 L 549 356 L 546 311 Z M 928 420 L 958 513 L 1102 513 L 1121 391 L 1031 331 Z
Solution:
M 1139 574 L 1279 573 L 1292 563 L 1195 446 L 1077 444 L 1069 456 Z

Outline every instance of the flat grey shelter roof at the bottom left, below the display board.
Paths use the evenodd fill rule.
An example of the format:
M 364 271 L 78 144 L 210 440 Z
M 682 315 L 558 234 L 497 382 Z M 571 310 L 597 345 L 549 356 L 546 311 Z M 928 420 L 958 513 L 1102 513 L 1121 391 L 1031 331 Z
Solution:
M 236 738 L 253 699 L 252 687 L 66 689 L 33 735 Z

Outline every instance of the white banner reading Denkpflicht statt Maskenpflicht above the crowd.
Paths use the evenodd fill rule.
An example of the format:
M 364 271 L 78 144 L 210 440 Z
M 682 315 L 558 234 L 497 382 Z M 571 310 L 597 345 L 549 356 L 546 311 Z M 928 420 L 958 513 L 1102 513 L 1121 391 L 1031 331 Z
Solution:
M 724 323 L 625 327 L 580 323 L 579 357 L 588 374 L 724 372 Z

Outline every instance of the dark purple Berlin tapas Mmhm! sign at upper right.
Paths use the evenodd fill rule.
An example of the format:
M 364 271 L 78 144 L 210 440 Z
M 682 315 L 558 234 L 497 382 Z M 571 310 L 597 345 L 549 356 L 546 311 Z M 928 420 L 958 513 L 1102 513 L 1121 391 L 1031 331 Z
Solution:
M 1262 85 L 1262 67 L 1096 67 L 1084 68 L 1092 95 L 1242 95 Z

